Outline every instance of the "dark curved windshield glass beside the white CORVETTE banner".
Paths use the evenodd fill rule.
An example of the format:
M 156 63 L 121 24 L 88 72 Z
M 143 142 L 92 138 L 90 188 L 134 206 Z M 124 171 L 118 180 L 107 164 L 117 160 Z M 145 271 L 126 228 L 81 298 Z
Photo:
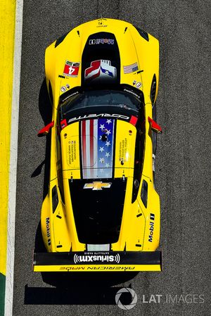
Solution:
M 70 96 L 60 105 L 60 116 L 70 115 L 70 112 L 75 110 L 86 110 L 86 108 L 101 108 L 105 107 L 117 107 L 132 112 L 139 111 L 141 107 L 141 101 L 138 96 L 129 93 L 127 91 L 110 91 L 110 90 L 95 90 L 85 91 L 83 93 Z

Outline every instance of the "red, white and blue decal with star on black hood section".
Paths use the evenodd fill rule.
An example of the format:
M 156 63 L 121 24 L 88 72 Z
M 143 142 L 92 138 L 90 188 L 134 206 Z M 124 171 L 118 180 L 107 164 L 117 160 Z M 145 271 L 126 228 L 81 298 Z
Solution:
M 94 80 L 101 78 L 102 80 L 114 80 L 117 77 L 117 68 L 111 65 L 110 61 L 98 60 L 91 61 L 89 68 L 85 69 L 84 79 Z

